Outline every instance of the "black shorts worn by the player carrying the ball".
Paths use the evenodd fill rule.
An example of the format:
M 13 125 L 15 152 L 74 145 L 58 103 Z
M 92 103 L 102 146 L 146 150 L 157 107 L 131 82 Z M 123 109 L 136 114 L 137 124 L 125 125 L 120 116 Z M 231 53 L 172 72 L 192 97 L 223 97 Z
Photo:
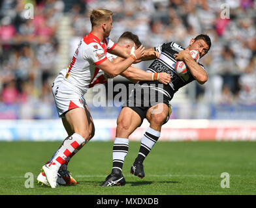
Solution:
M 127 101 L 123 104 L 123 107 L 129 107 L 140 116 L 140 125 L 142 124 L 144 118 L 146 118 L 148 109 L 157 105 L 158 103 L 165 103 L 169 107 L 169 114 L 167 116 L 167 120 L 163 124 L 167 123 L 171 113 L 169 101 L 172 98 L 173 94 L 171 98 L 166 96 L 161 92 L 161 89 L 156 90 L 158 88 L 157 85 L 156 88 L 151 87 L 150 84 L 152 83 L 155 84 L 155 81 L 140 83 L 140 86 L 135 87 Z M 147 84 L 148 86 L 145 84 Z M 159 83 L 157 82 L 157 84 Z

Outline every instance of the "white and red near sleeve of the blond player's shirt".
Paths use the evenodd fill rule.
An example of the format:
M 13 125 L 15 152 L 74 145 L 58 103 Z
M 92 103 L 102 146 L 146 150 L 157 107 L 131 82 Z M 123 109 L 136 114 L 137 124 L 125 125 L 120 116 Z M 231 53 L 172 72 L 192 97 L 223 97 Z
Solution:
M 106 60 L 106 53 L 103 47 L 97 43 L 91 43 L 84 51 L 84 59 L 91 60 L 95 65 L 99 65 Z

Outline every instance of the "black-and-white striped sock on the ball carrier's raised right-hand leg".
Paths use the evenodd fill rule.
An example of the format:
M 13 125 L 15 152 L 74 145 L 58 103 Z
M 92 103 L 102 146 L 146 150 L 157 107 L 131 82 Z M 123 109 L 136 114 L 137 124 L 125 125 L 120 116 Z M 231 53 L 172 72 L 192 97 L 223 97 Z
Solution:
M 138 157 L 135 161 L 143 162 L 153 148 L 155 142 L 157 142 L 161 131 L 155 131 L 154 129 L 148 127 L 147 131 L 141 138 L 140 150 L 138 151 Z

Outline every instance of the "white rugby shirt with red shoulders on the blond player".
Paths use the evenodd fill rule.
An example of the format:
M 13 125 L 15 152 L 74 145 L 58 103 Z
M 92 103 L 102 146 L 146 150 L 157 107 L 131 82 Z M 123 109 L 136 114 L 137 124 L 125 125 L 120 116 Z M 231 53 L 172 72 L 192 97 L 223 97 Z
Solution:
M 103 72 L 97 65 L 107 59 L 106 52 L 114 47 L 116 44 L 110 38 L 104 38 L 101 42 L 91 32 L 84 36 L 74 52 L 63 82 L 82 94 L 97 83 L 105 83 Z

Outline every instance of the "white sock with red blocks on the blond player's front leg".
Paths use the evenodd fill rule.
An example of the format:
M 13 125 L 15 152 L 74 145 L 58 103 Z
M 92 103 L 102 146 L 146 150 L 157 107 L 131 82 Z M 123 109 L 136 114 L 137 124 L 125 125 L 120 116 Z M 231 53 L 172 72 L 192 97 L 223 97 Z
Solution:
M 47 164 L 48 167 L 57 172 L 61 165 L 65 163 L 67 157 L 70 157 L 71 154 L 74 153 L 74 150 L 84 141 L 84 138 L 77 133 L 65 138 L 61 147 L 54 153 L 52 161 Z

